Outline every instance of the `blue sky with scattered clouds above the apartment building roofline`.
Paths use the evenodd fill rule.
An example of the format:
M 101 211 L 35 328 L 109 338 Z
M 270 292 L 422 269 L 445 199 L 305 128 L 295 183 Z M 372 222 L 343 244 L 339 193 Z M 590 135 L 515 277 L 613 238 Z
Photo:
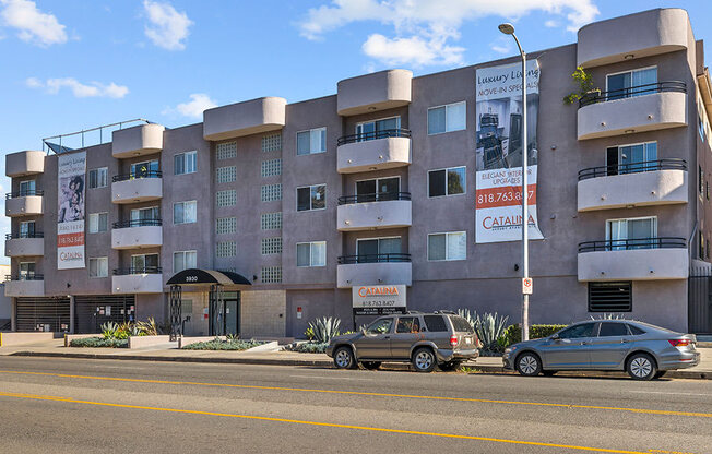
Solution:
M 213 105 L 330 95 L 368 71 L 511 56 L 497 31 L 505 20 L 537 50 L 574 41 L 588 22 L 657 7 L 688 10 L 710 61 L 712 2 L 701 0 L 0 0 L 0 153 L 138 117 L 176 127 Z M 0 184 L 7 192 L 9 180 Z

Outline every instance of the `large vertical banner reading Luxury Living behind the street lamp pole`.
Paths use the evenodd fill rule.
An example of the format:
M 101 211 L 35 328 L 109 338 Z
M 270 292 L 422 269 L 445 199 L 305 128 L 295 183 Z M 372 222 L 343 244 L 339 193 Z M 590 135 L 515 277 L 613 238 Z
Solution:
M 483 68 L 476 72 L 477 171 L 476 242 L 522 238 L 522 65 Z M 539 105 L 539 65 L 526 64 L 529 142 L 529 234 L 542 239 L 536 218 L 536 121 Z

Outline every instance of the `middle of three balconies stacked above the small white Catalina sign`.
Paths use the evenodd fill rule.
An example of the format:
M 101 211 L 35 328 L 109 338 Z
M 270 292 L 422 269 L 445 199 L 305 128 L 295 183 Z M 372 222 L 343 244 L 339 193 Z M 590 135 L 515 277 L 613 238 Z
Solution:
M 379 193 L 339 198 L 340 231 L 411 227 L 411 193 Z

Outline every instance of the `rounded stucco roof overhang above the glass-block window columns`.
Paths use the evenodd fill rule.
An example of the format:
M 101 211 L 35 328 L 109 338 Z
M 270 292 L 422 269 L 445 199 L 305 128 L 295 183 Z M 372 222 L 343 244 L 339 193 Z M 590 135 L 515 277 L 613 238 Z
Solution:
M 203 112 L 203 139 L 222 141 L 284 128 L 287 100 L 264 97 Z

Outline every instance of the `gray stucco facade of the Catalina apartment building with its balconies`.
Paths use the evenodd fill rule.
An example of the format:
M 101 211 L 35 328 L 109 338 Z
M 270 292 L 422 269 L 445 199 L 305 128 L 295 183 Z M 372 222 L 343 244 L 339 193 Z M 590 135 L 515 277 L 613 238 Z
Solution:
M 620 33 L 631 27 L 646 35 Z M 631 288 L 626 316 L 687 331 L 687 277 L 693 264 L 708 266 L 712 237 L 704 189 L 712 179 L 712 151 L 709 136 L 704 140 L 699 128 L 702 118 L 702 129 L 709 131 L 712 99 L 701 49 L 687 13 L 671 9 L 593 23 L 579 32 L 575 44 L 529 55 L 541 65 L 536 203 L 544 236 L 530 247 L 532 323 L 570 323 L 596 315 L 590 310 L 591 285 L 622 282 Z M 475 226 L 475 72 L 518 61 L 509 58 L 422 76 L 403 70 L 366 74 L 341 81 L 336 95 L 294 104 L 266 97 L 217 107 L 205 112 L 203 123 L 165 130 L 154 124 L 134 127 L 138 130 L 115 133 L 114 143 L 85 148 L 87 170 L 106 167 L 108 172 L 106 187 L 86 190 L 85 210 L 87 215 L 108 213 L 107 231 L 90 234 L 87 226 L 85 234 L 85 256 L 108 259 L 105 277 L 90 278 L 87 268 L 57 270 L 58 156 L 47 154 L 40 163 L 37 152 L 9 155 L 8 175 L 16 195 L 9 202 L 27 199 L 17 194 L 21 181 L 33 179 L 44 191 L 41 211 L 10 214 L 13 235 L 20 231 L 21 222 L 35 220 L 36 231 L 44 234 L 44 255 L 12 254 L 15 282 L 5 287 L 5 294 L 14 285 L 20 290 L 8 296 L 19 298 L 20 303 L 70 296 L 70 306 L 80 297 L 94 297 L 94 304 L 103 306 L 99 297 L 124 292 L 117 290 L 119 276 L 112 276 L 112 270 L 130 267 L 132 255 L 158 253 L 161 270 L 153 274 L 161 276 L 162 285 L 139 282 L 142 273 L 120 277 L 134 279 L 135 288 L 144 289 L 130 295 L 135 318 L 165 321 L 166 282 L 179 271 L 174 268 L 174 254 L 195 251 L 195 267 L 233 271 L 251 282 L 249 289 L 242 289 L 237 308 L 238 331 L 244 336 L 299 337 L 309 321 L 324 315 L 336 315 L 351 327 L 352 284 L 407 284 L 411 310 L 468 308 L 497 311 L 518 322 L 521 243 L 477 243 Z M 577 65 L 585 68 L 602 92 L 606 92 L 608 74 L 651 67 L 657 69 L 658 83 L 681 82 L 685 89 L 668 93 L 656 87 L 642 96 L 604 98 L 580 108 L 578 103 L 562 101 L 577 88 L 571 79 Z M 428 109 L 461 101 L 466 103 L 466 128 L 429 134 Z M 393 117 L 400 118 L 396 134 L 344 141 L 359 132 L 364 122 Z M 298 148 L 306 138 L 299 133 L 322 128 L 323 135 L 307 136 L 323 136 L 323 151 L 302 154 L 309 146 Z M 644 176 L 606 171 L 608 148 L 648 142 L 656 143 L 656 162 L 684 159 L 684 166 L 646 167 Z M 194 171 L 178 175 L 176 155 L 193 151 Z M 111 177 L 130 174 L 131 164 L 151 159 L 159 162 L 159 178 L 129 188 L 137 191 L 132 193 L 135 200 L 142 193 L 146 200 L 117 203 L 112 195 L 117 182 Z M 462 166 L 466 168 L 464 193 L 429 196 L 428 171 Z M 603 167 L 604 175 L 579 181 L 579 171 L 594 167 Z M 357 195 L 357 182 L 391 177 L 400 179 L 397 191 L 410 193 L 407 200 L 366 200 L 359 206 L 360 200 L 349 205 L 342 199 L 340 205 L 340 198 Z M 124 186 L 131 186 L 132 180 L 127 181 Z M 301 203 L 298 188 L 321 184 L 325 184 L 325 206 L 319 207 L 320 196 L 318 208 L 297 210 Z M 234 202 L 225 202 L 232 200 L 226 191 L 235 191 Z M 270 191 L 278 195 L 265 199 Z M 174 204 L 187 201 L 195 202 L 195 222 L 176 224 Z M 384 212 L 385 204 L 393 207 Z M 112 247 L 112 224 L 129 220 L 131 210 L 151 206 L 159 207 L 161 235 L 116 235 L 115 230 L 122 246 Z M 272 213 L 280 213 L 281 226 L 264 228 L 263 215 Z M 275 216 L 270 219 L 274 222 Z M 610 243 L 594 251 L 579 249 L 586 241 L 609 240 L 606 226 L 610 219 L 643 217 L 656 219 L 656 232 L 649 239 L 676 238 L 675 249 L 660 247 L 660 242 L 654 246 L 654 241 L 646 243 L 645 251 Z M 464 258 L 428 260 L 428 235 L 462 231 L 466 232 Z M 379 263 L 344 259 L 363 255 L 358 240 L 393 237 L 401 238 L 400 252 L 407 258 L 393 262 L 379 258 Z M 8 241 L 25 240 L 36 238 Z M 325 242 L 325 263 L 298 266 L 297 244 L 305 242 Z M 12 246 L 22 250 L 17 249 L 22 244 Z M 36 244 L 28 246 L 27 250 L 37 250 Z M 23 282 L 21 262 L 34 262 L 44 284 Z M 349 278 L 341 280 L 346 275 Z M 21 291 L 24 287 L 29 295 Z M 186 287 L 183 298 L 191 302 L 185 307 L 192 315 L 187 331 L 207 334 L 206 289 Z M 71 313 L 79 312 L 72 308 Z M 81 324 L 76 316 L 70 328 Z

